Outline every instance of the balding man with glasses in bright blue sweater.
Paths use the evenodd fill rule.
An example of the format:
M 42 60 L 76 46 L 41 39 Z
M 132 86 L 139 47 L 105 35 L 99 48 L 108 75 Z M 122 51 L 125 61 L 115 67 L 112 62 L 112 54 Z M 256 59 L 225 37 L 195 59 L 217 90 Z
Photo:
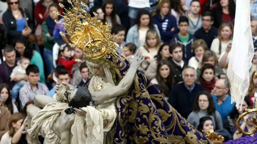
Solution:
M 228 95 L 229 82 L 227 79 L 219 79 L 216 81 L 213 88 L 213 101 L 216 110 L 220 113 L 222 123 L 231 113 L 235 106 L 235 102 L 231 104 L 231 97 Z

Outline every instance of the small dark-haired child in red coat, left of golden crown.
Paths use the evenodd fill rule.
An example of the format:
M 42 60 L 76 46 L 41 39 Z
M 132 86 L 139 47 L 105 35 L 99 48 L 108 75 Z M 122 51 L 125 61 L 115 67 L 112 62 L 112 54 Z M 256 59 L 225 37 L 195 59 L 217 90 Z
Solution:
M 67 69 L 69 71 L 69 76 L 71 77 L 71 69 L 72 66 L 76 63 L 76 62 L 82 62 L 81 59 L 73 59 L 73 57 L 71 56 L 71 47 L 64 44 L 60 46 L 59 49 L 59 58 L 58 58 L 58 65 L 64 65 L 65 69 Z

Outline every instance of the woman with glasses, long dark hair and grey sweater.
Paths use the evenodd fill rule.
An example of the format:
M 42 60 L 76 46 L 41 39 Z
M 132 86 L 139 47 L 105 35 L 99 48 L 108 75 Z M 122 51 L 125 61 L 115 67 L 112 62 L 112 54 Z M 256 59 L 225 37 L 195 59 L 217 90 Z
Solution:
M 198 127 L 199 119 L 209 116 L 213 123 L 213 129 L 223 129 L 221 116 L 215 109 L 213 98 L 208 91 L 200 91 L 195 99 L 193 105 L 193 111 L 188 115 L 187 122 L 189 122 L 194 127 Z

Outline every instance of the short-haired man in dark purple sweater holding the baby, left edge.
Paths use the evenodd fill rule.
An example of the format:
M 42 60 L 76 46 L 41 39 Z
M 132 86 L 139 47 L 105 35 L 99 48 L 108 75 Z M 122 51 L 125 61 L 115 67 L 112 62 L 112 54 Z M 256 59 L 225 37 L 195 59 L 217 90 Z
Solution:
M 16 52 L 13 46 L 6 45 L 4 47 L 4 57 L 5 61 L 0 65 L 0 83 L 6 83 L 10 89 L 15 84 L 15 81 L 20 81 L 22 79 L 26 80 L 26 74 L 15 75 L 13 81 L 10 79 L 10 74 L 13 71 L 13 68 L 17 66 L 18 59 L 16 58 Z

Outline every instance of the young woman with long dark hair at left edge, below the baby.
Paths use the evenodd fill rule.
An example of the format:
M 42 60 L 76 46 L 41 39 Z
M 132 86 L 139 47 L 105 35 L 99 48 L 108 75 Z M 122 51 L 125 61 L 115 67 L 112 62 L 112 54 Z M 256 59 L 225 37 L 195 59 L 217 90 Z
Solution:
M 13 103 L 10 89 L 7 84 L 0 83 L 0 95 L 1 95 L 0 106 L 6 107 L 11 114 L 18 113 L 18 109 L 16 105 Z

